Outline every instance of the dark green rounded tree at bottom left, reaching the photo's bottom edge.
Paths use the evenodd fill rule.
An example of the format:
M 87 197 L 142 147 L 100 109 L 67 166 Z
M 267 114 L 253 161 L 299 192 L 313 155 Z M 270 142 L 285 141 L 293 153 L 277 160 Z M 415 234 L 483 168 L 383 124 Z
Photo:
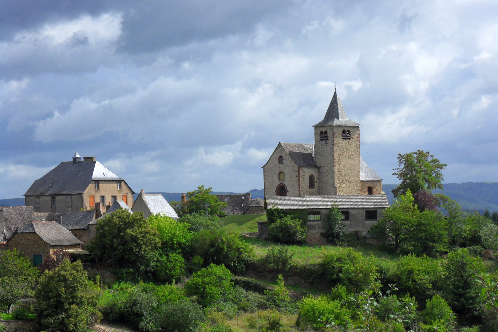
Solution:
M 66 259 L 40 278 L 35 292 L 36 322 L 52 331 L 87 331 L 102 316 L 95 293 L 81 262 Z

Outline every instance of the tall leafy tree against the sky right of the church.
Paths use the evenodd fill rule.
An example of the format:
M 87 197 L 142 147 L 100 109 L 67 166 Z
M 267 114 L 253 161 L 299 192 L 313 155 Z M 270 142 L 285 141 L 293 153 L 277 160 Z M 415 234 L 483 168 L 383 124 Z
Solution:
M 394 197 L 404 195 L 407 190 L 413 194 L 421 191 L 431 193 L 436 188 L 443 190 L 441 170 L 446 166 L 429 151 L 398 153 L 398 167 L 393 168 L 396 172 L 392 175 L 396 175 L 401 183 L 392 190 Z

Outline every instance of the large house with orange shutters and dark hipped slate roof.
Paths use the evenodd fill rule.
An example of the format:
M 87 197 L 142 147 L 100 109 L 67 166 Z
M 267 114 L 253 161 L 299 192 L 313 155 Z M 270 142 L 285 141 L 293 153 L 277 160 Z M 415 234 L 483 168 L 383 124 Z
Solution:
M 95 209 L 96 203 L 101 209 L 115 201 L 133 205 L 133 191 L 122 178 L 95 157 L 83 159 L 76 152 L 72 162 L 61 162 L 33 182 L 24 194 L 24 205 L 32 206 L 35 212 L 60 214 Z

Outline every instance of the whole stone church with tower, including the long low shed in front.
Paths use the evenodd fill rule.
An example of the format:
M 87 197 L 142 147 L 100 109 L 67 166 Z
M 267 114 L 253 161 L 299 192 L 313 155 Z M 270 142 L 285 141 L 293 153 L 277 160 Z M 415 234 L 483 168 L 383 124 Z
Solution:
M 335 91 L 313 126 L 315 143 L 280 142 L 262 167 L 267 206 L 307 210 L 308 232 L 316 235 L 337 204 L 347 230 L 366 233 L 389 204 L 382 179 L 360 156 L 360 126 L 346 116 Z

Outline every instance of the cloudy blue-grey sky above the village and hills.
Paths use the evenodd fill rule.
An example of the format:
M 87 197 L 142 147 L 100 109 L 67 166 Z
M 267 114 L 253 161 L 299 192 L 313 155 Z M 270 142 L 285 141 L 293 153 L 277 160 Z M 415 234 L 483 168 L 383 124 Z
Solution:
M 138 192 L 263 187 L 334 85 L 361 155 L 498 181 L 497 1 L 0 0 L 0 199 L 75 150 Z

